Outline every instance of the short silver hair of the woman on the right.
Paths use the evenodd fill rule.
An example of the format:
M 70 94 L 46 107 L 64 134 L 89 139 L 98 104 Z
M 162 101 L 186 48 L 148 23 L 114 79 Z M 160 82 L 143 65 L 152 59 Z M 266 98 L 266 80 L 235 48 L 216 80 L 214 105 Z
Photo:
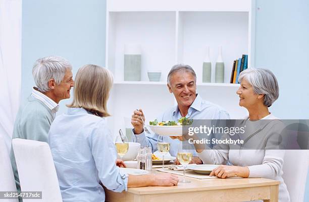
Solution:
M 239 74 L 238 82 L 248 81 L 253 91 L 264 94 L 264 105 L 270 107 L 279 97 L 279 86 L 275 75 L 266 69 L 246 69 Z

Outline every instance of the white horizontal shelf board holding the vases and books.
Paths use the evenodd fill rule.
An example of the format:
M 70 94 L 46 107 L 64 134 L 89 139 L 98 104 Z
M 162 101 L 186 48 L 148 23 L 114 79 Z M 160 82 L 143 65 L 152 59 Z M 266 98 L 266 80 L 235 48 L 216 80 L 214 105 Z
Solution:
M 167 85 L 166 82 L 130 82 L 130 81 L 115 81 L 115 85 Z M 239 84 L 226 84 L 226 83 L 197 83 L 197 86 L 213 86 L 213 87 L 239 87 Z

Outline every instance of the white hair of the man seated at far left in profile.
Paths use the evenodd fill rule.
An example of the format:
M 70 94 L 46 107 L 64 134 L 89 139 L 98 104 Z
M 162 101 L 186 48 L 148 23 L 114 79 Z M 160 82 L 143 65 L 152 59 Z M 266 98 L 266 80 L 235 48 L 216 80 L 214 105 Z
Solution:
M 56 85 L 59 85 L 68 69 L 72 70 L 72 65 L 67 59 L 60 56 L 48 56 L 37 59 L 32 69 L 36 87 L 43 93 L 49 91 L 48 81 L 54 79 Z

